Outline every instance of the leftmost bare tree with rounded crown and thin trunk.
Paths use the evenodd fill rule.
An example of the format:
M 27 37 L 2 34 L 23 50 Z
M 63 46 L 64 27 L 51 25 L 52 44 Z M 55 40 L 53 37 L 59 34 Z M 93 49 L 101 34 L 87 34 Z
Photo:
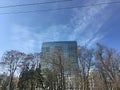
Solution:
M 2 56 L 2 61 L 0 64 L 5 66 L 6 70 L 9 72 L 8 90 L 13 90 L 13 77 L 18 68 L 21 67 L 24 55 L 25 54 L 22 52 L 11 50 L 5 52 Z

